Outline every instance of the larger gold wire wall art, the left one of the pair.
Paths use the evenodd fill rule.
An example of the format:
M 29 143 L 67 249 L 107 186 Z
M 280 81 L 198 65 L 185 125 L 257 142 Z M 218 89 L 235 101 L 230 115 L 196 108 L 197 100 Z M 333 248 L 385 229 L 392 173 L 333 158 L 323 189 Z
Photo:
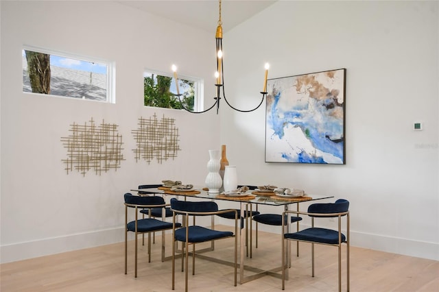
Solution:
M 114 123 L 95 125 L 93 118 L 84 125 L 70 125 L 71 134 L 61 137 L 64 148 L 67 149 L 67 159 L 63 159 L 67 174 L 73 170 L 86 175 L 93 170 L 96 175 L 110 169 L 120 168 L 123 159 L 122 135 Z

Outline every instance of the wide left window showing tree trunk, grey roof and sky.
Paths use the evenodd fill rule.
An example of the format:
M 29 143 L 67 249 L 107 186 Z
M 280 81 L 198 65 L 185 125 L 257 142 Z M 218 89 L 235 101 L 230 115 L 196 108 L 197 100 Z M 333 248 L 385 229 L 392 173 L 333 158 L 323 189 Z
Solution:
M 23 49 L 23 92 L 114 103 L 111 62 Z

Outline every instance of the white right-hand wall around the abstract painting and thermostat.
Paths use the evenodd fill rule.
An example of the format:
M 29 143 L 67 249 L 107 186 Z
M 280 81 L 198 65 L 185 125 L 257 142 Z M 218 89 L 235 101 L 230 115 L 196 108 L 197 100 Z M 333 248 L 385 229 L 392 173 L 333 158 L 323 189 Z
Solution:
M 439 260 L 438 27 L 437 1 L 278 1 L 228 32 L 240 108 L 257 104 L 265 62 L 269 78 L 347 70 L 346 165 L 265 163 L 265 107 L 222 110 L 239 180 L 346 198 L 353 245 Z

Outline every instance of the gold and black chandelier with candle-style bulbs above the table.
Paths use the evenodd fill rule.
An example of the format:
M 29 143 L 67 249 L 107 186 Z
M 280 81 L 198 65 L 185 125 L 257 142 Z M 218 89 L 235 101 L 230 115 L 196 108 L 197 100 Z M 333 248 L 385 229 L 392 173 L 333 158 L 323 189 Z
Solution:
M 213 97 L 213 99 L 215 99 L 215 102 L 213 103 L 213 105 L 210 108 L 207 108 L 206 110 L 202 110 L 200 112 L 195 112 L 193 110 L 189 110 L 189 108 L 186 108 L 183 104 L 182 101 L 180 99 L 180 97 L 182 96 L 180 94 L 180 89 L 178 86 L 178 78 L 177 78 L 177 67 L 176 65 L 172 65 L 172 71 L 174 71 L 174 78 L 175 78 L 175 82 L 176 82 L 176 89 L 177 89 L 177 94 L 176 96 L 178 97 L 178 101 L 180 101 L 180 105 L 182 106 L 182 108 L 184 108 L 185 110 L 187 110 L 188 112 L 191 112 L 193 114 L 201 114 L 203 112 L 208 112 L 209 110 L 211 110 L 212 108 L 214 108 L 216 106 L 217 109 L 217 114 L 219 111 L 219 100 L 220 99 L 224 99 L 224 101 L 226 101 L 226 104 L 228 104 L 228 106 L 230 106 L 230 108 L 233 108 L 234 110 L 237 110 L 238 112 L 252 112 L 253 110 L 257 110 L 262 102 L 264 97 L 267 95 L 267 76 L 268 76 L 268 68 L 269 65 L 268 63 L 265 64 L 265 77 L 264 77 L 264 82 L 263 82 L 263 90 L 261 91 L 261 95 L 262 95 L 262 99 L 261 102 L 259 103 L 259 105 L 256 108 L 252 108 L 251 110 L 239 110 L 238 108 L 235 108 L 234 106 L 232 106 L 228 100 L 226 99 L 226 93 L 224 91 L 224 60 L 223 60 L 223 56 L 222 56 L 222 21 L 221 21 L 221 0 L 219 0 L 219 19 L 218 19 L 218 26 L 217 26 L 217 31 L 215 34 L 215 39 L 216 39 L 216 56 L 217 56 L 217 71 L 215 72 L 215 80 L 216 80 L 216 97 Z

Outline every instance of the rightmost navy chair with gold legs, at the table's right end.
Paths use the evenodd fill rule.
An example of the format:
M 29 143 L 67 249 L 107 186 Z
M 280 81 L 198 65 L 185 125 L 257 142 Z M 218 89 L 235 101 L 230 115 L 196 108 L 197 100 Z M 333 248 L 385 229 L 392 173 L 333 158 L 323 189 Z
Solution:
M 285 289 L 285 241 L 301 241 L 311 243 L 311 269 L 314 276 L 314 244 L 331 245 L 338 247 L 338 291 L 342 291 L 342 244 L 346 244 L 346 290 L 349 291 L 349 202 L 346 199 L 337 199 L 335 203 L 328 204 L 311 204 L 308 212 L 285 211 L 296 215 L 309 215 L 311 217 L 311 228 L 301 230 L 294 233 L 285 232 L 283 226 L 282 232 L 282 290 Z M 316 219 L 337 218 L 337 230 L 329 228 L 315 227 Z M 342 219 L 345 223 L 342 224 Z M 342 233 L 342 225 L 346 233 Z

